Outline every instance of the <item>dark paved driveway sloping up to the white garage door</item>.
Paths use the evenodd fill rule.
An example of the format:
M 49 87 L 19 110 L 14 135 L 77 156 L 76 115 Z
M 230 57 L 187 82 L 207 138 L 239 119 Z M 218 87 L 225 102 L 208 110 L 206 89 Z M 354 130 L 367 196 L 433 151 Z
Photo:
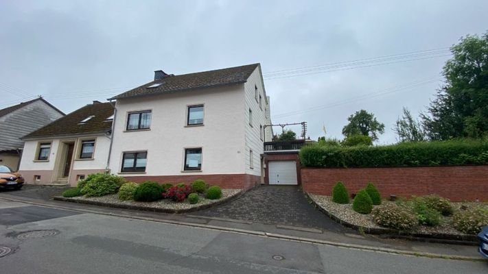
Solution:
M 192 214 L 273 225 L 351 231 L 314 208 L 297 186 L 258 186 L 233 201 Z

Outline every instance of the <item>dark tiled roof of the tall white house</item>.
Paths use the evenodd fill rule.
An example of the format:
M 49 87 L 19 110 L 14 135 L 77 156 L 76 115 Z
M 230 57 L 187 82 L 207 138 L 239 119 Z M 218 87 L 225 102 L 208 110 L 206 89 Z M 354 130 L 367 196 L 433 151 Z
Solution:
M 203 71 L 200 73 L 167 76 L 163 79 L 128 90 L 112 99 L 159 95 L 163 93 L 192 90 L 195 88 L 210 88 L 213 86 L 240 84 L 247 81 L 248 77 L 253 73 L 257 66 L 259 66 L 259 64 L 248 64 L 246 66 L 235 66 L 233 68 L 218 69 L 216 71 Z M 155 88 L 148 88 L 148 86 L 156 83 L 161 83 L 161 85 Z

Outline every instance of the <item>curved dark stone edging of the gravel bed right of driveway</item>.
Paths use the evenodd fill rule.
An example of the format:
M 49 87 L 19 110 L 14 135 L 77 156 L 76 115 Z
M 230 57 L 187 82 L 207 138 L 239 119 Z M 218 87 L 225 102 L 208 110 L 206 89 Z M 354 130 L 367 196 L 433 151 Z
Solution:
M 303 192 L 305 197 L 308 199 L 310 203 L 312 203 L 315 208 L 329 216 L 331 219 L 344 225 L 346 227 L 350 227 L 358 232 L 362 231 L 367 234 L 379 235 L 381 238 L 399 238 L 399 239 L 406 239 L 406 240 L 417 240 L 419 242 L 435 242 L 441 244 L 449 244 L 449 245 L 478 245 L 478 238 L 474 235 L 453 235 L 453 234 L 421 234 L 421 233 L 408 233 L 402 232 L 396 229 L 389 229 L 389 228 L 382 228 L 382 227 L 364 227 L 362 225 L 355 225 L 353 223 L 349 223 L 340 219 L 338 216 L 330 213 L 325 208 L 320 206 L 318 203 L 310 197 L 307 192 Z

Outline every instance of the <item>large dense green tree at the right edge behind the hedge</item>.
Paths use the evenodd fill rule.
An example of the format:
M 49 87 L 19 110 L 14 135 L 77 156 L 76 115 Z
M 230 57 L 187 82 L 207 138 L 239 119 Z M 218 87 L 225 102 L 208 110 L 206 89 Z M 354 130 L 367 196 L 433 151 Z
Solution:
M 451 47 L 443 67 L 445 85 L 422 114 L 432 140 L 488 135 L 488 32 L 466 36 Z

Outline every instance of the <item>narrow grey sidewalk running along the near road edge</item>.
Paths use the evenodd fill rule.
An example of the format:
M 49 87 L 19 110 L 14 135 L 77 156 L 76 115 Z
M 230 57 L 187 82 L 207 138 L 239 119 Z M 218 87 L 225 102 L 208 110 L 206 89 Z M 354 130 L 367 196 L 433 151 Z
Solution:
M 131 219 L 142 219 L 176 225 L 218 229 L 226 232 L 255 234 L 270 238 L 298 240 L 324 245 L 336 245 L 355 249 L 367 249 L 389 253 L 406 253 L 413 256 L 428 256 L 433 258 L 457 258 L 461 260 L 481 257 L 475 246 L 446 245 L 432 242 L 417 242 L 409 240 L 384 239 L 378 236 L 360 235 L 347 232 L 332 232 L 310 227 L 297 227 L 288 225 L 271 225 L 236 219 L 223 219 L 212 216 L 189 214 L 165 214 L 159 212 L 145 212 L 138 210 L 121 210 L 117 208 L 104 208 L 89 206 L 80 203 L 68 203 L 43 199 L 45 197 L 26 197 L 12 192 L 0 192 L 0 199 L 30 203 L 36 206 L 62 208 L 92 214 L 107 214 Z

